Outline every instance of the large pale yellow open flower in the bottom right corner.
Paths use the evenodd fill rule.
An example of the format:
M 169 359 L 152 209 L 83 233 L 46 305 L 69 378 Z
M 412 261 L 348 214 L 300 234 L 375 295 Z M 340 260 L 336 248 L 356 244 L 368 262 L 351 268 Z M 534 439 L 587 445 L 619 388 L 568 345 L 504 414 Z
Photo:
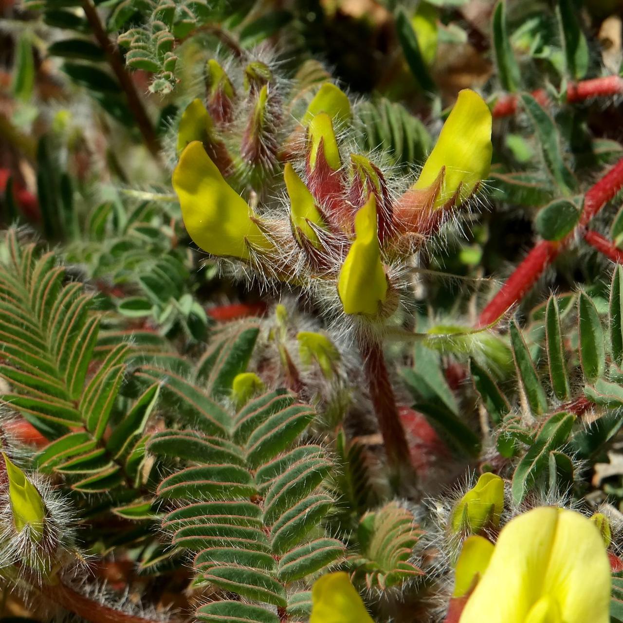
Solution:
M 610 587 L 597 526 L 542 506 L 503 528 L 460 623 L 609 623 Z

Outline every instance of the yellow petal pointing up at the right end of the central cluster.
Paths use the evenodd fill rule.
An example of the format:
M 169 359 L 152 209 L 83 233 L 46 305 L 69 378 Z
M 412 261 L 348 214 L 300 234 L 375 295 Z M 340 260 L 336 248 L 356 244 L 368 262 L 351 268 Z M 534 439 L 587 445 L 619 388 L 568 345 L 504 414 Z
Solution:
M 472 90 L 462 90 L 412 188 L 429 188 L 445 167 L 444 181 L 434 207 L 447 204 L 457 191 L 457 205 L 465 201 L 489 174 L 491 126 L 492 117 L 487 103 Z

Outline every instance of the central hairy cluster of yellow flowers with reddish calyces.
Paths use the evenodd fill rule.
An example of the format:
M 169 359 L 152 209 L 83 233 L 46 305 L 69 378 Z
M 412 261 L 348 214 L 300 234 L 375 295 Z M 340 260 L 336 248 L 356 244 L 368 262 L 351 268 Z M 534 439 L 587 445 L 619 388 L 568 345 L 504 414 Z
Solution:
M 233 90 L 222 69 L 213 67 L 211 75 L 207 102 L 194 100 L 179 124 L 173 187 L 191 238 L 264 281 L 305 288 L 336 314 L 372 321 L 391 315 L 406 260 L 487 177 L 487 104 L 471 90 L 460 92 L 424 168 L 405 191 L 392 188 L 371 155 L 348 153 L 351 103 L 329 82 L 278 146 L 278 98 L 270 78 L 259 86 L 262 76 L 256 76 L 240 158 L 282 161 L 287 203 L 275 209 L 252 206 L 229 183 L 234 174 L 218 128 L 231 110 Z

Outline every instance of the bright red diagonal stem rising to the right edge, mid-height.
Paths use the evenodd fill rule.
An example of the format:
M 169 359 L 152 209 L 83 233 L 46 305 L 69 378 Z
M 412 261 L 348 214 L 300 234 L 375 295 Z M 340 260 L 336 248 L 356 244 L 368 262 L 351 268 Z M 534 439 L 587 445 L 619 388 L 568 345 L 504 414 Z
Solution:
M 584 196 L 584 209 L 578 227 L 560 242 L 541 240 L 515 269 L 500 291 L 478 318 L 479 326 L 487 326 L 501 318 L 534 285 L 561 250 L 584 229 L 599 210 L 623 188 L 623 158 L 619 160 Z M 592 244 L 592 243 L 591 243 Z

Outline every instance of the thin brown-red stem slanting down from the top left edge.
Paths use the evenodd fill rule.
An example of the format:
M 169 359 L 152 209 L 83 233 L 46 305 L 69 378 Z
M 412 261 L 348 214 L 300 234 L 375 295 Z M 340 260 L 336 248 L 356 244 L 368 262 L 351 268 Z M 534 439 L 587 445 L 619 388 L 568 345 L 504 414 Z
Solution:
M 125 69 L 125 65 L 123 64 L 123 59 L 121 58 L 117 45 L 114 44 L 106 34 L 97 9 L 95 9 L 95 6 L 92 4 L 92 0 L 82 0 L 82 9 L 87 17 L 88 23 L 91 26 L 95 39 L 97 39 L 98 44 L 100 44 L 106 52 L 108 64 L 110 64 L 110 68 L 113 70 L 115 76 L 117 76 L 117 80 L 125 93 L 128 100 L 128 106 L 130 107 L 132 115 L 136 120 L 136 125 L 138 125 L 138 128 L 143 135 L 145 145 L 148 150 L 150 150 L 151 154 L 156 159 L 159 159 L 160 143 L 158 141 L 158 137 L 156 136 L 153 125 L 151 125 L 150 118 L 147 116 L 145 107 L 143 107 L 143 102 L 141 102 L 141 98 L 138 97 L 135 84 L 132 82 L 130 74 L 128 74 Z

